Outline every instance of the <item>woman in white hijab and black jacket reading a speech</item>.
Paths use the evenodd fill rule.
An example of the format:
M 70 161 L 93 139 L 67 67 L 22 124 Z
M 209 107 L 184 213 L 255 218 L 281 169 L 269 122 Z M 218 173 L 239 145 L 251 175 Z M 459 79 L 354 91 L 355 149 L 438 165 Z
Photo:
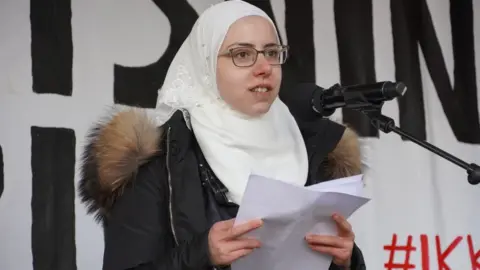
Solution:
M 104 269 L 213 269 L 261 243 L 233 226 L 250 174 L 295 185 L 360 173 L 356 137 L 326 119 L 295 119 L 278 98 L 286 46 L 242 1 L 207 9 L 173 60 L 155 121 L 127 110 L 95 127 L 80 192 L 105 232 Z M 259 53 L 257 53 L 259 51 Z M 330 269 L 365 269 L 351 226 L 306 236 Z

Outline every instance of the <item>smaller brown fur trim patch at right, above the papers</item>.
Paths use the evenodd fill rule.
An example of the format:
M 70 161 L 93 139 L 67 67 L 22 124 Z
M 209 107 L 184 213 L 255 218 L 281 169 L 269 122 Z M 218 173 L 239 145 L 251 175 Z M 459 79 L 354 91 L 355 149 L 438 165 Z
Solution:
M 335 149 L 328 154 L 327 170 L 331 179 L 362 173 L 362 162 L 358 135 L 346 128 Z

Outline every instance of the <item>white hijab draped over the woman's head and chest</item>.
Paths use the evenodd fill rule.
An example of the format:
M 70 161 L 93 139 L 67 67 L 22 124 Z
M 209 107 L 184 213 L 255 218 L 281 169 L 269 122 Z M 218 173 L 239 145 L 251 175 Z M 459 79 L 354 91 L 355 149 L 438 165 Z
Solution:
M 261 9 L 239 0 L 205 10 L 173 59 L 155 109 L 159 125 L 175 110 L 184 112 L 208 164 L 229 190 L 227 197 L 237 204 L 251 174 L 305 185 L 308 173 L 305 143 L 280 99 L 262 117 L 251 118 L 220 98 L 217 54 L 230 25 L 249 15 L 274 26 Z

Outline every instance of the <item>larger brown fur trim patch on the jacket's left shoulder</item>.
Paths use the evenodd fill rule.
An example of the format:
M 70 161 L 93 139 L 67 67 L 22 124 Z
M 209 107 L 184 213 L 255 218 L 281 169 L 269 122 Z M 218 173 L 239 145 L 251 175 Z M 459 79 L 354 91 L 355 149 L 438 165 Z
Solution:
M 88 134 L 80 166 L 80 198 L 98 220 L 135 178 L 138 168 L 159 152 L 163 135 L 141 109 L 108 115 Z

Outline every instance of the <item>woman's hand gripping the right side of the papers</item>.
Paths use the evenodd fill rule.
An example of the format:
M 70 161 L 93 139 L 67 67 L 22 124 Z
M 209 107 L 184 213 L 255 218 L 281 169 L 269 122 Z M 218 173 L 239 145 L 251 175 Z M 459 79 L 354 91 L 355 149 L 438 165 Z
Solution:
M 355 234 L 352 226 L 344 217 L 334 214 L 333 220 L 337 223 L 338 236 L 311 234 L 307 235 L 305 239 L 311 249 L 333 256 L 334 264 L 349 267 Z

